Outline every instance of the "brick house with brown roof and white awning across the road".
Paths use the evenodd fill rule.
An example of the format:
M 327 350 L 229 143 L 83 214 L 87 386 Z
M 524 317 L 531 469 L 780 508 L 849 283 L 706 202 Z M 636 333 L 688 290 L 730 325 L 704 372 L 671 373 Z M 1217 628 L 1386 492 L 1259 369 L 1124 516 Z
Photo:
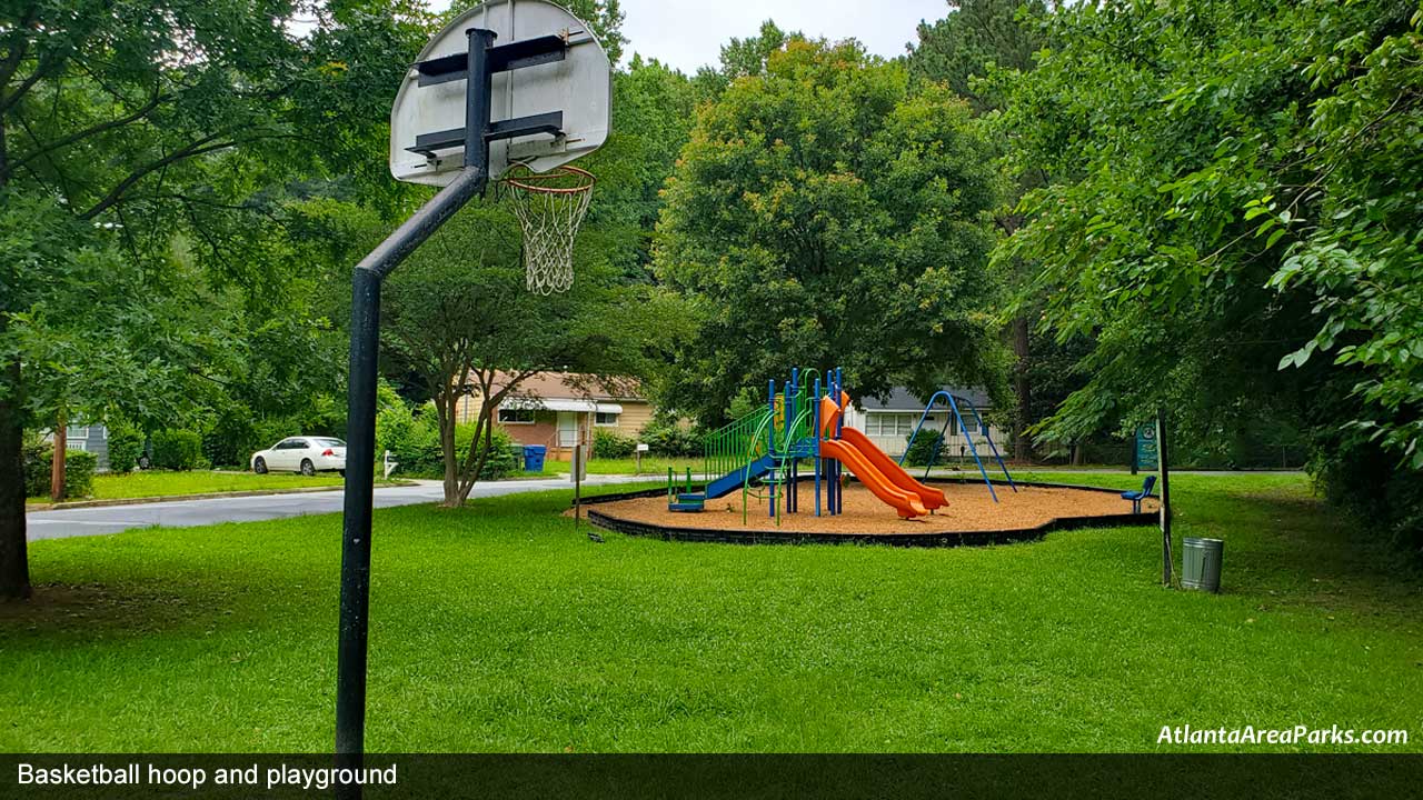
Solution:
M 499 376 L 495 386 L 499 387 Z M 477 393 L 460 399 L 455 421 L 480 419 L 484 399 Z M 548 457 L 572 458 L 578 441 L 592 441 L 595 430 L 613 430 L 636 438 L 652 420 L 653 406 L 630 379 L 598 381 L 591 376 L 539 373 L 525 379 L 495 410 L 494 420 L 519 444 L 542 444 Z

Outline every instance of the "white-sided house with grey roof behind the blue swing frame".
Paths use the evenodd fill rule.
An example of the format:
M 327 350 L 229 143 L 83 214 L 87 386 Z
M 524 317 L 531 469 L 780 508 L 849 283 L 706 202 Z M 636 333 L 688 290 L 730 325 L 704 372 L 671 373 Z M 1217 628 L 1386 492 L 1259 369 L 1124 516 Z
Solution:
M 992 406 L 983 391 L 969 389 L 945 390 L 956 397 L 968 399 L 978 407 L 980 416 L 988 417 Z M 924 400 L 916 399 L 908 389 L 895 389 L 887 400 L 865 397 L 861 406 L 852 404 L 845 413 L 845 424 L 858 428 L 881 450 L 898 458 L 904 454 L 914 427 L 919 424 L 924 407 Z M 933 410 L 929 411 L 929 417 L 924 421 L 924 433 L 921 436 L 929 431 L 938 433 L 945 430 L 945 424 L 948 424 L 948 430 L 943 433 L 943 453 L 939 456 L 941 460 L 972 458 L 969 453 L 969 436 L 973 437 L 973 446 L 979 448 L 979 457 L 989 458 L 990 453 L 985 447 L 985 433 L 992 436 L 993 444 L 998 446 L 1000 453 L 1003 451 L 1006 440 L 1002 430 L 989 424 L 986 419 L 983 423 L 988 431 L 980 430 L 968 403 L 959 403 L 959 413 L 963 416 L 968 430 L 961 428 L 959 420 L 953 419 L 953 411 L 949 410 L 948 403 L 942 399 L 933 404 Z

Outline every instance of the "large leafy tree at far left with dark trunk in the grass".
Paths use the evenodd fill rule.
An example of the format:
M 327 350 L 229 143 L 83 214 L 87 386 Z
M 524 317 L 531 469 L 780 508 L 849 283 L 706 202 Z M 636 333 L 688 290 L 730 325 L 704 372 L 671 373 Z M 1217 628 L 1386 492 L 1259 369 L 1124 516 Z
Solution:
M 295 178 L 379 141 L 370 85 L 396 85 L 408 58 L 390 54 L 424 40 L 423 11 L 316 13 L 296 38 L 286 3 L 0 11 L 0 596 L 28 594 L 23 428 L 60 407 L 168 416 L 238 372 L 242 336 L 213 316 L 239 317 L 194 300 L 256 316 L 289 299 L 265 258 L 273 209 Z

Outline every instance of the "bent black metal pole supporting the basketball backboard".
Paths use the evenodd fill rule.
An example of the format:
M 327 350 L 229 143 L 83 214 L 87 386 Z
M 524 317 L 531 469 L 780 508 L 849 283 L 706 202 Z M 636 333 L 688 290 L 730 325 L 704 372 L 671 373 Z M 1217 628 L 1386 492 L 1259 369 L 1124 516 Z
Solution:
M 370 252 L 351 282 L 350 389 L 346 431 L 346 517 L 342 530 L 340 635 L 336 658 L 336 753 L 343 766 L 359 766 L 366 749 L 366 645 L 370 631 L 370 518 L 376 470 L 376 380 L 380 354 L 380 288 L 416 248 L 490 182 L 488 44 L 494 31 L 471 31 L 480 43 L 470 54 L 467 98 L 467 168 Z M 475 70 L 475 67 L 478 67 Z M 337 787 L 360 797 L 360 786 Z

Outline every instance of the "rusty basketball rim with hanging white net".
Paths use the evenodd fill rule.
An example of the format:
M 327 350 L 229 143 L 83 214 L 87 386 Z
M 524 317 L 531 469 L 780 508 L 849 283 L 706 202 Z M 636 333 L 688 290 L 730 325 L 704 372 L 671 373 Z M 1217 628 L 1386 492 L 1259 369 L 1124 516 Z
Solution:
M 524 231 L 524 276 L 529 292 L 573 286 L 573 241 L 593 196 L 593 174 L 578 167 L 534 172 L 515 164 L 499 181 Z

